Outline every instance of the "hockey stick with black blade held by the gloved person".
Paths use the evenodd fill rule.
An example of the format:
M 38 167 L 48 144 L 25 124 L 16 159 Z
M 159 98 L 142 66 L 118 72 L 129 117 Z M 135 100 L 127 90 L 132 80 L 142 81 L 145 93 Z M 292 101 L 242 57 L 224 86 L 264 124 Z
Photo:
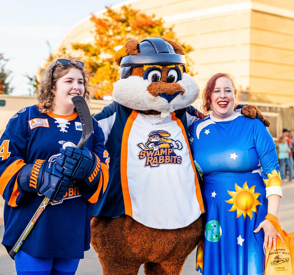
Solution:
M 74 106 L 76 108 L 76 111 L 78 113 L 78 116 L 82 124 L 82 137 L 80 141 L 78 142 L 78 145 L 76 146 L 76 148 L 83 149 L 84 145 L 86 144 L 86 142 L 88 141 L 88 139 L 90 138 L 93 132 L 93 121 L 92 121 L 92 117 L 91 117 L 88 105 L 85 99 L 81 95 L 74 96 L 71 99 L 71 101 L 74 103 Z M 14 257 L 16 255 L 17 251 L 24 244 L 26 237 L 29 235 L 36 221 L 39 219 L 39 217 L 45 210 L 46 205 L 48 205 L 49 202 L 50 202 L 50 199 L 45 197 L 41 205 L 39 206 L 38 210 L 34 214 L 33 218 L 30 220 L 29 224 L 26 226 L 26 229 L 21 234 L 18 241 L 9 252 L 9 256 Z

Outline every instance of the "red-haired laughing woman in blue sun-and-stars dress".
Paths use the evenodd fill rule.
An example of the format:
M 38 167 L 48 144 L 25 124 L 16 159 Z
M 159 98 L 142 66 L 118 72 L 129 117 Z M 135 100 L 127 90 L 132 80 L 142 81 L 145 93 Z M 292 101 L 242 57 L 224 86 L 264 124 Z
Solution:
M 278 217 L 282 196 L 275 144 L 260 120 L 234 111 L 235 95 L 229 75 L 214 75 L 203 94 L 212 114 L 190 127 L 207 211 L 196 264 L 204 275 L 264 274 L 264 247 L 282 239 L 265 220 L 267 213 Z

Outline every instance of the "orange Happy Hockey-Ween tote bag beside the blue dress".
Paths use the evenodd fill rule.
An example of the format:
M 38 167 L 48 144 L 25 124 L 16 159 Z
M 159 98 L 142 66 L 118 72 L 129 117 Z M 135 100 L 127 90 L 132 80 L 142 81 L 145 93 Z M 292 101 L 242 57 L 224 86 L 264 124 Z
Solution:
M 287 233 L 279 220 L 268 213 L 265 217 L 282 235 L 285 243 L 277 238 L 276 250 L 265 251 L 265 275 L 294 275 L 294 232 Z

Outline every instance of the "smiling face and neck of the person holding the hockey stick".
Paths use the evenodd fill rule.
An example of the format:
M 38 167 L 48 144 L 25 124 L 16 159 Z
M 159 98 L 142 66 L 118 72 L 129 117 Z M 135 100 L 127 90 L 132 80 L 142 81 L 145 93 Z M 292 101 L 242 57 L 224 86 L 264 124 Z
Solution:
M 83 81 L 81 70 L 77 68 L 71 68 L 66 75 L 56 81 L 53 105 L 55 113 L 62 115 L 74 110 L 74 103 L 71 101 L 71 98 L 84 94 L 85 87 Z

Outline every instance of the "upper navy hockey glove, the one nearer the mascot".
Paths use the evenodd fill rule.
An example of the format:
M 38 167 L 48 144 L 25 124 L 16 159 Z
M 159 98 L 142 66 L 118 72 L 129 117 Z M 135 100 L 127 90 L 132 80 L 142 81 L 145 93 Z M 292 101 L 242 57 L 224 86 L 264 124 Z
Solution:
M 60 149 L 61 156 L 56 159 L 59 172 L 81 181 L 85 188 L 95 185 L 101 174 L 100 159 L 86 147 L 82 150 L 67 146 Z

